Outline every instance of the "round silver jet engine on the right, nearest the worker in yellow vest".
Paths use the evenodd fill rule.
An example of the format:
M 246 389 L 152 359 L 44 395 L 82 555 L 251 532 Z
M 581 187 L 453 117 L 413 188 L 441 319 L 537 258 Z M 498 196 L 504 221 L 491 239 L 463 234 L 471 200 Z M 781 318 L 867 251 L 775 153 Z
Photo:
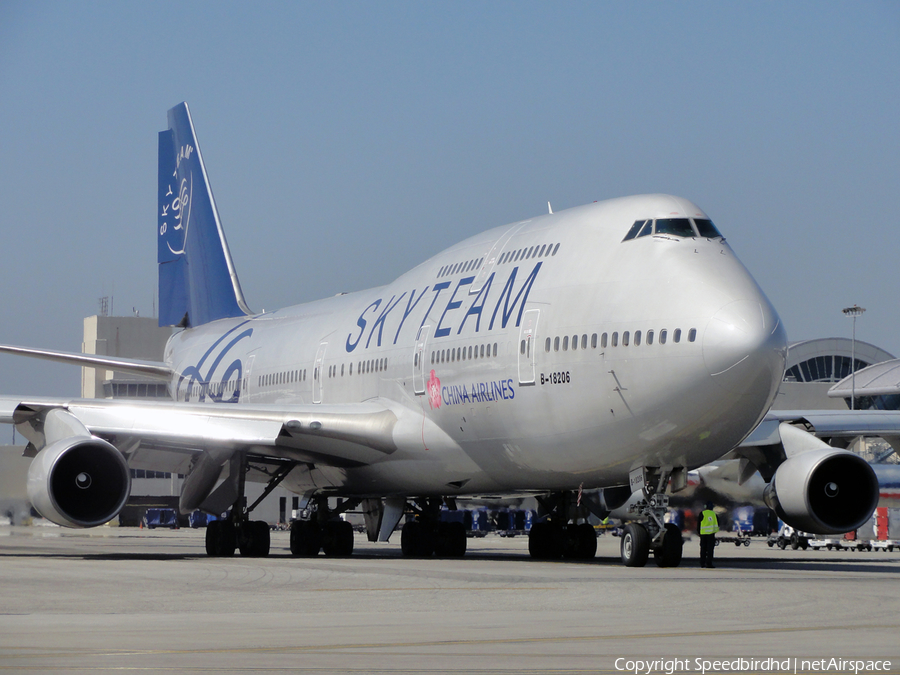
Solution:
M 863 525 L 878 505 L 878 478 L 845 450 L 810 450 L 783 462 L 765 491 L 769 508 L 791 527 L 843 534 Z

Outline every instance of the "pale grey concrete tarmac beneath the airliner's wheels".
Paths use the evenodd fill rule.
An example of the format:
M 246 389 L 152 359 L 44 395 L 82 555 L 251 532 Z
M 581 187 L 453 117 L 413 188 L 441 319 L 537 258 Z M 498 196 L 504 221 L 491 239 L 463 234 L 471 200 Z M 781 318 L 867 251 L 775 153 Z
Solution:
M 701 569 L 695 538 L 680 567 L 625 568 L 610 535 L 591 562 L 468 543 L 299 559 L 274 532 L 267 558 L 208 558 L 203 530 L 0 527 L 0 670 L 900 673 L 900 551 L 754 539 Z

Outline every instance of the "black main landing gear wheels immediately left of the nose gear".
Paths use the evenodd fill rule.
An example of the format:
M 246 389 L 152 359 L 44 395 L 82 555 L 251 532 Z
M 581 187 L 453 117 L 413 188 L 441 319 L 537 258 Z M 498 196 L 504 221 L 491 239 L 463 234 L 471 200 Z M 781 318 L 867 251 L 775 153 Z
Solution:
M 587 518 L 586 504 L 572 492 L 538 497 L 546 516 L 528 533 L 528 553 L 537 560 L 591 560 L 597 553 L 597 533 Z

